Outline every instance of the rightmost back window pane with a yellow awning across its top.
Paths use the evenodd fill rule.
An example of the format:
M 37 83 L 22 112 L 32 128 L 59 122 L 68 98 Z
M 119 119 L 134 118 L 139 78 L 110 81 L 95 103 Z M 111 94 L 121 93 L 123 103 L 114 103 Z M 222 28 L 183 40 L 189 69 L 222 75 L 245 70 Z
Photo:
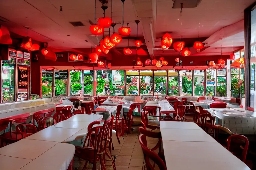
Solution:
M 179 96 L 178 70 L 169 70 L 169 96 Z

